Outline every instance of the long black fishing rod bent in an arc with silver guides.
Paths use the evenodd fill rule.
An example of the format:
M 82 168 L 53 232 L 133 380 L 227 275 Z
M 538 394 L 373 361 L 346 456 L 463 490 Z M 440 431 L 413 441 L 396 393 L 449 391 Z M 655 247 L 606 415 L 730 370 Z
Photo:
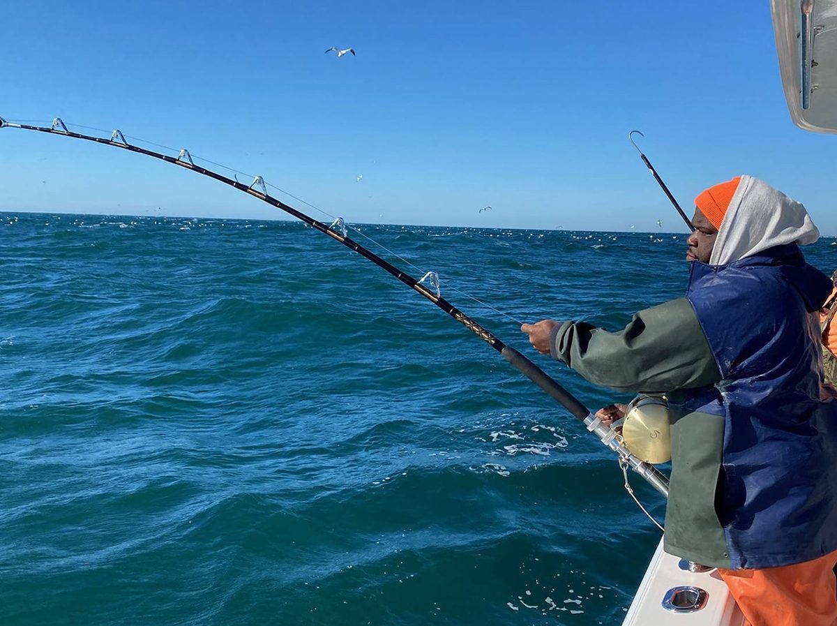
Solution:
M 218 174 L 218 172 L 213 172 L 205 167 L 196 165 L 193 162 L 192 156 L 185 148 L 180 151 L 180 154 L 177 157 L 168 156 L 161 154 L 160 152 L 147 150 L 146 148 L 129 144 L 126 141 L 125 136 L 123 136 L 121 131 L 118 130 L 113 131 L 110 139 L 105 139 L 105 137 L 83 135 L 81 133 L 69 131 L 60 118 L 55 118 L 52 126 L 47 127 L 29 126 L 28 124 L 14 124 L 12 122 L 5 121 L 2 117 L 0 117 L 0 129 L 7 127 L 18 128 L 24 131 L 39 131 L 50 135 L 73 137 L 74 139 L 84 139 L 86 141 L 95 141 L 96 143 L 105 144 L 106 146 L 113 146 L 123 150 L 137 152 L 138 154 L 153 156 L 161 161 L 172 163 L 172 165 L 185 167 L 186 169 L 197 172 L 198 174 L 203 174 L 203 176 L 214 178 L 215 180 L 223 182 L 230 187 L 235 187 L 241 192 L 249 193 L 251 196 L 259 198 L 262 202 L 268 203 L 275 208 L 279 208 L 285 213 L 289 213 L 300 221 L 305 222 L 309 226 L 316 228 L 321 233 L 327 234 L 331 237 L 331 239 L 336 239 L 336 241 L 345 245 L 348 249 L 357 252 L 357 254 L 361 254 L 378 267 L 386 270 L 390 275 L 393 275 L 405 285 L 408 285 L 408 287 L 418 291 L 419 294 L 424 295 L 425 298 L 433 302 L 434 305 L 439 307 L 439 309 L 444 310 L 444 312 L 453 317 L 454 320 L 460 322 L 460 324 L 465 326 L 465 328 L 474 332 L 475 335 L 479 336 L 483 341 L 486 341 L 496 351 L 500 352 L 506 361 L 516 367 L 518 371 L 537 384 L 538 387 L 541 387 L 542 390 L 548 393 L 550 397 L 557 401 L 557 403 L 560 403 L 564 408 L 567 408 L 567 411 L 572 413 L 573 417 L 581 420 L 587 426 L 588 430 L 595 434 L 604 445 L 619 455 L 620 462 L 629 464 L 631 469 L 642 476 L 644 480 L 655 488 L 655 490 L 659 491 L 662 495 L 668 496 L 668 479 L 665 475 L 660 473 L 660 471 L 653 465 L 645 463 L 634 454 L 631 454 L 629 449 L 622 442 L 622 439 L 614 432 L 613 429 L 603 424 L 601 418 L 597 418 L 593 415 L 593 413 L 591 413 L 588 408 L 579 402 L 577 398 L 567 392 L 567 390 L 553 380 L 552 377 L 549 377 L 546 372 L 544 372 L 540 367 L 537 367 L 537 365 L 531 362 L 528 358 L 524 357 L 519 351 L 516 351 L 511 346 L 506 346 L 505 343 L 490 333 L 490 331 L 485 330 L 483 326 L 480 326 L 480 324 L 472 320 L 469 316 L 466 316 L 465 313 L 457 309 L 448 300 L 445 300 L 439 291 L 438 275 L 434 272 L 428 272 L 422 279 L 414 279 L 412 276 L 403 272 L 401 269 L 398 269 L 393 264 L 388 263 L 388 261 L 382 259 L 371 250 L 364 248 L 361 244 L 358 244 L 356 241 L 350 239 L 346 233 L 346 223 L 342 218 L 337 218 L 334 223 L 331 223 L 331 225 L 311 218 L 306 215 L 306 213 L 302 213 L 301 211 L 298 211 L 297 209 L 290 207 L 280 200 L 268 195 L 267 189 L 264 186 L 264 179 L 262 177 L 254 177 L 253 182 L 249 185 L 245 185 L 243 182 L 239 182 L 238 179 L 225 177 L 222 174 Z M 429 285 L 433 287 L 433 290 L 430 290 L 426 285 L 424 285 L 425 280 L 429 282 Z

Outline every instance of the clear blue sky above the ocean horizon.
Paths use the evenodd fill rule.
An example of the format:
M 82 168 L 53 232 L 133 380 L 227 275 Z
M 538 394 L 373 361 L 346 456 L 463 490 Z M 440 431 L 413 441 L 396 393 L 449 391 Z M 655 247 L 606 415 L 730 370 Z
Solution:
M 790 121 L 768 0 L 35 1 L 3 13 L 0 42 L 0 116 L 186 147 L 349 222 L 679 231 L 628 142 L 639 129 L 690 212 L 748 173 L 837 234 L 837 137 Z M 5 210 L 283 217 L 181 168 L 13 129 L 0 186 Z

